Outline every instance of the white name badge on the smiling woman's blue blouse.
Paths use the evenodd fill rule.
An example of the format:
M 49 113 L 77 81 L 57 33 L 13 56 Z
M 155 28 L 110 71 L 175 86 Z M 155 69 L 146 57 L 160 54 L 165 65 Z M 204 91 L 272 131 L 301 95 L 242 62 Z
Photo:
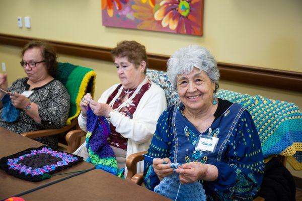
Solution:
M 219 138 L 199 135 L 195 149 L 201 151 L 215 152 Z

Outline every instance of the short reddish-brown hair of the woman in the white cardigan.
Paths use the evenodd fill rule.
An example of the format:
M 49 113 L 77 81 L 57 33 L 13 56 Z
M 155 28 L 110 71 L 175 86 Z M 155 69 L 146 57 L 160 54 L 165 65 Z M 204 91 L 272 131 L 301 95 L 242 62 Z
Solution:
M 140 43 L 136 41 L 121 41 L 111 50 L 111 55 L 113 58 L 127 57 L 136 67 L 139 66 L 141 61 L 145 61 L 146 67 L 144 73 L 146 73 L 148 67 L 147 53 L 145 47 Z

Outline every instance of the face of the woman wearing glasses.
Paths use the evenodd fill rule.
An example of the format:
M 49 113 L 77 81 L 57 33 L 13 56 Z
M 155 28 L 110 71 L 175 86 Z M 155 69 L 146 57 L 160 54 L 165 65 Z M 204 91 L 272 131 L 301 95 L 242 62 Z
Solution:
M 40 48 L 31 48 L 24 52 L 23 61 L 26 63 L 30 62 L 40 62 L 44 58 L 41 54 Z M 31 68 L 29 65 L 24 67 L 24 71 L 27 74 L 27 77 L 32 82 L 41 81 L 48 76 L 47 68 L 44 62 L 37 63 L 35 67 Z

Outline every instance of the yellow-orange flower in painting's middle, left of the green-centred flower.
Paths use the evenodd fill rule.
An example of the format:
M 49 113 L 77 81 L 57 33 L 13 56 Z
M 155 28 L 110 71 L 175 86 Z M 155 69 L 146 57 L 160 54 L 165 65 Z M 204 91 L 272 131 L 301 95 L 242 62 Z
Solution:
M 150 4 L 145 4 L 146 1 L 134 0 L 134 5 L 131 6 L 134 13 L 133 16 L 141 20 L 137 25 L 138 29 L 148 29 L 148 30 L 161 30 L 162 24 L 154 19 L 154 14 L 159 8 L 159 3 L 161 0 L 155 0 L 154 6 Z

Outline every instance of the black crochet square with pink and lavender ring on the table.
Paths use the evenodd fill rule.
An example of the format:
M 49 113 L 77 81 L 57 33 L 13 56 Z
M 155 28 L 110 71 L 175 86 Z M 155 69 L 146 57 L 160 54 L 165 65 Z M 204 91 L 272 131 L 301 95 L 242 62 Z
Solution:
M 82 160 L 81 156 L 56 151 L 43 145 L 3 157 L 0 159 L 0 168 L 20 179 L 36 182 Z

